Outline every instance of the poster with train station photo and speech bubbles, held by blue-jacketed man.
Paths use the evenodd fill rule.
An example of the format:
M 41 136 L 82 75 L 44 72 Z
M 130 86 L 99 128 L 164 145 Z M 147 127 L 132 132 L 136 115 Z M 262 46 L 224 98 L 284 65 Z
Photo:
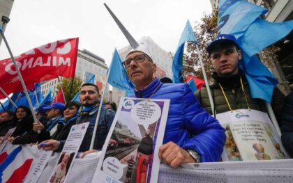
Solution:
M 157 182 L 169 104 L 121 97 L 92 182 Z

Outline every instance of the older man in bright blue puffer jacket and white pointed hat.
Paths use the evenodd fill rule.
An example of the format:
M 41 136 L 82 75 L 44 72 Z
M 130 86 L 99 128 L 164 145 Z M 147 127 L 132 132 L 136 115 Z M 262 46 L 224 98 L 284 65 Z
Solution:
M 147 42 L 141 40 L 123 61 L 135 83 L 138 98 L 170 99 L 170 109 L 159 157 L 165 164 L 218 161 L 223 152 L 225 131 L 195 99 L 186 83 L 161 83 L 153 75 L 156 64 Z

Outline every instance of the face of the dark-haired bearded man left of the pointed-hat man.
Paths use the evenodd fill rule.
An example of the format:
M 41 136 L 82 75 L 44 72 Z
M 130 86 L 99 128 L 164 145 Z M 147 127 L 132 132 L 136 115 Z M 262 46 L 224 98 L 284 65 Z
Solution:
M 98 101 L 98 91 L 93 86 L 83 86 L 80 88 L 80 102 L 84 106 L 90 106 Z

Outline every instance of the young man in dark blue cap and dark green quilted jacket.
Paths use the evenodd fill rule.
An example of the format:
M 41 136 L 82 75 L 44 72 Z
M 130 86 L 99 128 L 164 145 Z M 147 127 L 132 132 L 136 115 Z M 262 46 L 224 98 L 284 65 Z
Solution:
M 223 113 L 231 109 L 255 109 L 266 112 L 266 105 L 262 100 L 250 97 L 250 88 L 245 73 L 238 66 L 242 60 L 242 52 L 234 35 L 218 35 L 209 44 L 206 51 L 208 51 L 215 69 L 210 82 L 215 112 Z M 195 97 L 206 111 L 212 113 L 206 88 L 197 90 Z M 284 97 L 278 88 L 273 90 L 271 105 L 277 118 L 280 116 Z

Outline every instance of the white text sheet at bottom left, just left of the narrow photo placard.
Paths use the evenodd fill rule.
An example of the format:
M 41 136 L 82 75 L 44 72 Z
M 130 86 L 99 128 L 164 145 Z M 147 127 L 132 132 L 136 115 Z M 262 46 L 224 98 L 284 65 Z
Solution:
M 51 151 L 45 151 L 40 150 L 40 157 L 38 159 L 35 159 L 36 164 L 33 166 L 33 168 L 30 169 L 29 175 L 27 175 L 26 180 L 24 183 L 35 183 L 38 181 L 38 178 L 40 177 L 40 174 L 43 172 L 45 166 L 47 165 L 47 162 L 49 161 L 52 150 Z

